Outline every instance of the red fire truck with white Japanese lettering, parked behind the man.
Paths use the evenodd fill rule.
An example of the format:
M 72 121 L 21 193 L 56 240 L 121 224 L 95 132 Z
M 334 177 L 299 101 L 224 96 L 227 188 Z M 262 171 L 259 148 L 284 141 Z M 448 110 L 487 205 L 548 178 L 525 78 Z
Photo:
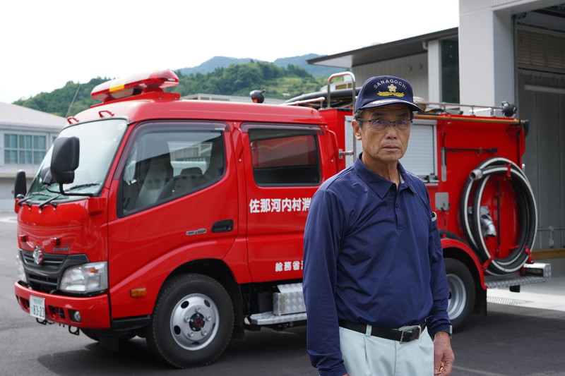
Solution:
M 278 106 L 182 100 L 163 90 L 171 71 L 95 87 L 102 103 L 68 119 L 30 188 L 16 177 L 21 308 L 101 344 L 145 337 L 179 368 L 212 362 L 244 329 L 304 324 L 310 199 L 360 150 L 355 79 L 329 90 L 340 75 L 353 78 Z M 530 255 L 527 121 L 458 107 L 427 104 L 401 160 L 429 188 L 456 329 L 486 313 L 487 288 L 551 272 Z

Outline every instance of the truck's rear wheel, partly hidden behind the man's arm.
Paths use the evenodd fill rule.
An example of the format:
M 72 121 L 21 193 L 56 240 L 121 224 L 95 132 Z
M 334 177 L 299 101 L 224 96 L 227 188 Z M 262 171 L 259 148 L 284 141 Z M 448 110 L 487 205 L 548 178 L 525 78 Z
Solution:
M 453 328 L 459 329 L 475 308 L 475 283 L 463 262 L 453 258 L 446 258 L 444 262 L 449 286 L 447 313 Z

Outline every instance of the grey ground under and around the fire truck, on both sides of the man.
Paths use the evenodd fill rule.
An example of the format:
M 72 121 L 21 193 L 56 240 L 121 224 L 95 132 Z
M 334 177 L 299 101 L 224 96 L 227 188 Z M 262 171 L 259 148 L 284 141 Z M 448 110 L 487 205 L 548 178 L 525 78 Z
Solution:
M 13 215 L 0 214 L 0 375 L 317 375 L 305 327 L 246 332 L 246 341 L 232 341 L 212 365 L 175 370 L 140 338 L 110 351 L 66 328 L 38 325 L 13 297 L 15 229 Z M 565 273 L 521 293 L 492 289 L 487 296 L 488 314 L 472 315 L 453 335 L 452 375 L 565 376 Z

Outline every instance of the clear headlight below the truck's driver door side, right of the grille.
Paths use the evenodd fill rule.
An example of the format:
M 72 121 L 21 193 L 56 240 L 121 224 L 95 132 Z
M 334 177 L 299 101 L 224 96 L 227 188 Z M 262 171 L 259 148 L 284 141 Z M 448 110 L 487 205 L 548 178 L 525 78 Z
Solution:
M 63 273 L 59 289 L 68 292 L 90 293 L 108 288 L 108 268 L 106 262 L 69 267 Z

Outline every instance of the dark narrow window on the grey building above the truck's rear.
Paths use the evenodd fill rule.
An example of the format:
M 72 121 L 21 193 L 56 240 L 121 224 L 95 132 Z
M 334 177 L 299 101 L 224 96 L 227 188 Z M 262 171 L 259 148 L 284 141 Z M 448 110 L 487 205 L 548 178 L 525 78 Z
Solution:
M 441 101 L 459 103 L 459 40 L 441 40 Z

